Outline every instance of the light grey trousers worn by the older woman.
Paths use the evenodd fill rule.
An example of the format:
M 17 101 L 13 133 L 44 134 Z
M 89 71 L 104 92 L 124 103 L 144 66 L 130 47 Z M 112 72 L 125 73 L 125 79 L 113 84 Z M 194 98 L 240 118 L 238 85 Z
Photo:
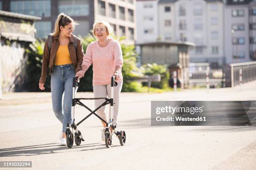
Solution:
M 117 116 L 118 116 L 118 107 L 119 107 L 119 97 L 120 97 L 120 92 L 122 90 L 123 83 L 119 82 L 117 86 L 114 87 L 114 108 L 113 108 L 113 124 L 117 125 Z M 110 98 L 111 95 L 111 86 L 110 84 L 108 85 L 94 85 L 93 86 L 93 94 L 95 98 L 99 97 L 107 97 Z M 103 102 L 105 102 L 105 99 L 99 99 L 99 100 L 94 100 L 95 101 L 95 108 L 99 107 Z M 96 111 L 97 115 L 105 119 L 107 122 L 110 117 L 110 111 L 108 114 L 108 119 L 107 119 L 107 114 L 105 112 L 105 107 L 100 107 L 99 110 Z

